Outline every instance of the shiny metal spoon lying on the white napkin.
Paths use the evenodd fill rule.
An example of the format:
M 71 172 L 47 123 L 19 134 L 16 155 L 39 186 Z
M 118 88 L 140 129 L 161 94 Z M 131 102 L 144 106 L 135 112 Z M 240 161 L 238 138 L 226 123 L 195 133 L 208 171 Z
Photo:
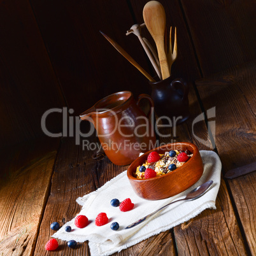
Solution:
M 150 216 L 154 215 L 158 211 L 166 208 L 166 206 L 169 206 L 170 204 L 176 203 L 178 201 L 192 201 L 192 200 L 197 199 L 198 197 L 203 196 L 203 194 L 208 190 L 208 188 L 211 187 L 212 183 L 213 183 L 212 180 L 207 181 L 206 183 L 203 183 L 201 186 L 199 186 L 199 187 L 193 189 L 192 191 L 190 191 L 185 198 L 173 201 L 169 204 L 166 204 L 165 206 L 162 206 L 160 209 L 158 209 L 156 211 L 153 211 L 153 213 L 150 213 L 149 215 L 146 215 L 145 217 L 143 217 L 143 218 L 137 220 L 136 222 L 132 223 L 131 225 L 125 227 L 125 229 L 131 229 L 131 227 L 135 227 L 136 225 L 140 224 L 141 222 L 144 222 L 144 220 L 146 220 Z

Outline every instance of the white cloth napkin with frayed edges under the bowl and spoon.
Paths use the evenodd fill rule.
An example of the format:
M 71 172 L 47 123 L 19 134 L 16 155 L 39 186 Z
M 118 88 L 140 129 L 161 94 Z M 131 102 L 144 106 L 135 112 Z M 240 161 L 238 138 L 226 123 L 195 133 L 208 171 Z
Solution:
M 188 188 L 186 191 L 167 199 L 148 201 L 135 194 L 127 178 L 127 171 L 124 171 L 104 184 L 103 187 L 76 199 L 76 202 L 83 206 L 79 215 L 85 215 L 89 218 L 89 225 L 87 225 L 87 227 L 83 229 L 76 227 L 74 218 L 53 234 L 53 238 L 66 241 L 74 239 L 76 242 L 80 243 L 88 240 L 92 256 L 110 255 L 135 245 L 146 238 L 150 238 L 150 236 L 159 234 L 162 231 L 167 231 L 176 225 L 186 222 L 190 218 L 196 217 L 196 215 L 206 208 L 216 209 L 215 199 L 220 187 L 222 164 L 215 152 L 202 150 L 200 154 L 204 164 L 203 176 L 195 185 Z M 124 229 L 127 225 L 139 220 L 139 218 L 145 217 L 145 215 L 152 213 L 152 211 L 157 210 L 161 206 L 175 199 L 184 197 L 192 189 L 208 180 L 213 180 L 213 185 L 210 190 L 202 197 L 199 197 L 199 199 L 171 204 L 136 227 Z M 131 198 L 132 203 L 134 203 L 134 208 L 131 211 L 122 212 L 118 207 L 113 207 L 110 204 L 113 198 L 117 198 L 121 202 L 128 197 Z M 101 212 L 107 214 L 109 221 L 108 224 L 97 227 L 94 224 L 94 220 L 98 213 Z M 118 222 L 120 225 L 118 231 L 112 231 L 110 229 L 112 222 Z M 71 232 L 65 231 L 67 225 L 71 226 Z

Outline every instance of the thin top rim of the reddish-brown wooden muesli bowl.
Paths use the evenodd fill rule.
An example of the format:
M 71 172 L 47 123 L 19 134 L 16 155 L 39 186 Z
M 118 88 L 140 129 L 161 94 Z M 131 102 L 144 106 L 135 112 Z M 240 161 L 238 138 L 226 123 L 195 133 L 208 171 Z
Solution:
M 153 178 L 148 178 L 148 179 L 138 179 L 136 177 L 134 177 L 131 173 L 130 168 L 132 166 L 132 164 L 134 164 L 135 161 L 137 161 L 138 159 L 143 159 L 146 157 L 146 155 L 148 155 L 149 153 L 153 152 L 153 151 L 157 151 L 157 150 L 161 150 L 162 148 L 167 148 L 167 146 L 175 146 L 175 145 L 187 145 L 187 146 L 191 146 L 193 148 L 193 156 L 188 159 L 187 162 L 185 162 L 185 164 L 183 164 L 181 167 L 178 167 L 177 169 L 175 169 L 174 171 L 171 171 L 170 173 L 166 173 L 164 175 L 161 175 L 161 176 L 156 176 L 156 177 L 153 177 Z M 199 153 L 199 150 L 197 148 L 196 145 L 194 145 L 193 143 L 190 143 L 190 142 L 175 142 L 175 143 L 167 143 L 165 145 L 162 145 L 162 146 L 158 146 L 157 148 L 153 148 L 152 150 L 149 150 L 148 152 L 145 152 L 143 153 L 143 155 L 141 155 L 140 157 L 136 158 L 131 164 L 130 166 L 128 167 L 127 169 L 127 176 L 130 180 L 134 180 L 134 181 L 138 181 L 138 182 L 145 182 L 145 181 L 150 181 L 150 180 L 157 180 L 159 178 L 164 178 L 164 177 L 167 177 L 169 176 L 170 174 L 173 174 L 173 173 L 176 173 L 177 171 L 180 171 L 182 169 L 184 169 L 184 167 L 187 166 L 187 164 L 189 162 L 191 162 L 191 160 L 193 160 L 195 158 L 195 156 L 197 155 L 197 153 Z

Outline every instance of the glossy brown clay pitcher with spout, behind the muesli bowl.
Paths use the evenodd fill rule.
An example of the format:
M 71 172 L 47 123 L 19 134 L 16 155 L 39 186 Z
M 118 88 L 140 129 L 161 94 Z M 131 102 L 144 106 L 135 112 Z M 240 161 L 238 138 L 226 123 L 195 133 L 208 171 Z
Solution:
M 148 117 L 139 108 L 143 98 L 150 102 Z M 80 118 L 94 124 L 101 146 L 111 162 L 124 166 L 131 164 L 139 153 L 155 146 L 155 133 L 150 120 L 152 108 L 150 96 L 141 94 L 136 102 L 131 92 L 123 91 L 104 97 L 83 112 Z

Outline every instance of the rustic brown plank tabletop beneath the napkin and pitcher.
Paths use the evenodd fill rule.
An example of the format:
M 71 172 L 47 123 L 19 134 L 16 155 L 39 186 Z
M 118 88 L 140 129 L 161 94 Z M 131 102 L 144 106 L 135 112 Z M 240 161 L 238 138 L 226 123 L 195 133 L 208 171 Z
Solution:
M 205 210 L 118 254 L 256 255 L 256 173 L 224 178 L 227 171 L 255 162 L 255 82 L 253 63 L 196 81 L 190 85 L 192 117 L 177 127 L 176 138 L 161 139 L 190 141 L 200 150 L 213 150 L 215 144 L 223 165 L 217 210 Z M 194 125 L 194 135 L 204 140 L 199 141 L 192 122 L 213 107 L 216 117 Z M 215 134 L 209 136 L 214 122 Z M 53 221 L 62 225 L 80 211 L 77 197 L 127 169 L 106 157 L 94 160 L 92 153 L 73 138 L 43 138 L 1 152 L 0 255 L 90 255 L 87 242 L 72 250 L 59 241 L 56 252 L 46 252 L 45 243 L 54 232 Z

